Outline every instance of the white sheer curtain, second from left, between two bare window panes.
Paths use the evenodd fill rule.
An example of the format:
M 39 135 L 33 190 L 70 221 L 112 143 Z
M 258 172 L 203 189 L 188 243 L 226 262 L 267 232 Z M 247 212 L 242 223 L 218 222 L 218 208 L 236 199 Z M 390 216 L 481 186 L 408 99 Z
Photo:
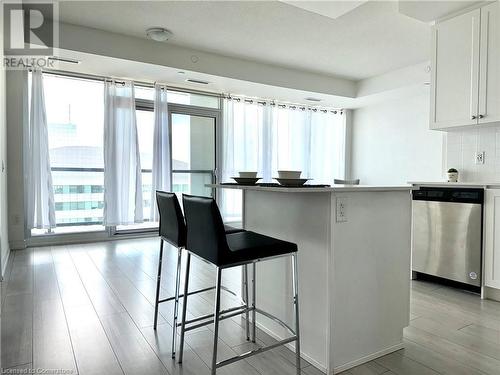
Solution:
M 134 85 L 104 84 L 104 225 L 143 221 Z

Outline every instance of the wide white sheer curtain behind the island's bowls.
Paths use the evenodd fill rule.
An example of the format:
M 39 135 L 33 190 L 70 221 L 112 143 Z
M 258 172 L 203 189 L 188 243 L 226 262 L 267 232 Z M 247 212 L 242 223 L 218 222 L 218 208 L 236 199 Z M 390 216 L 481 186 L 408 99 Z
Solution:
M 272 182 L 278 170 L 300 170 L 311 184 L 331 185 L 345 177 L 345 138 L 341 111 L 225 99 L 222 182 L 233 182 L 239 171 Z M 238 191 L 222 190 L 222 210 L 226 220 L 239 220 Z

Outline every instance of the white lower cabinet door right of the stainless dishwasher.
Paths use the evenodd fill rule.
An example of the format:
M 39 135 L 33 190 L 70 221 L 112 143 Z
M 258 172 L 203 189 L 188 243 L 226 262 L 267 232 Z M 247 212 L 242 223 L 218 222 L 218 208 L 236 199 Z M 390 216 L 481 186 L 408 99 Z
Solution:
M 484 282 L 500 289 L 500 189 L 486 190 Z

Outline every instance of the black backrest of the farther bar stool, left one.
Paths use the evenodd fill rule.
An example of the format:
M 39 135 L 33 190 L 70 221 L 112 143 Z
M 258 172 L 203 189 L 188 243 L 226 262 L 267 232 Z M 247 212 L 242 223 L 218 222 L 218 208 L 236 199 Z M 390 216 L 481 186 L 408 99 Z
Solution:
M 156 191 L 156 203 L 160 213 L 160 236 L 176 247 L 185 247 L 186 223 L 177 195 Z

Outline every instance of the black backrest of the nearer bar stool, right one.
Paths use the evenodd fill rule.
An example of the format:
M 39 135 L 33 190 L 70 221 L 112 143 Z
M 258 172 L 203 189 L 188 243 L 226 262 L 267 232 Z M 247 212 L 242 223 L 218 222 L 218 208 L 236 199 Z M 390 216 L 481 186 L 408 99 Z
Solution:
M 213 198 L 183 194 L 182 204 L 187 227 L 186 249 L 213 264 L 219 264 L 230 250 L 217 203 Z

